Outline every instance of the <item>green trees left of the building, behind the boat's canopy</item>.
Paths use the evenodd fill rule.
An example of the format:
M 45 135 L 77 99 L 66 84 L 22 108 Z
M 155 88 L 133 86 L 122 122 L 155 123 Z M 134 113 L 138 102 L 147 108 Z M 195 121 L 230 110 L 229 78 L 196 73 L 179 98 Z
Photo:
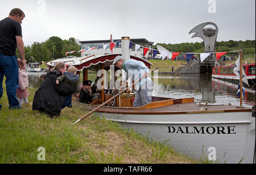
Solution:
M 60 37 L 49 37 L 45 42 L 34 42 L 31 46 L 25 46 L 25 58 L 27 62 L 31 56 L 37 62 L 48 62 L 52 59 L 63 58 L 66 52 L 72 50 L 80 50 L 81 46 L 76 42 L 76 39 L 71 37 L 68 40 L 62 40 Z M 17 58 L 19 58 L 18 50 L 16 50 Z M 69 56 L 80 57 L 80 53 L 72 53 Z

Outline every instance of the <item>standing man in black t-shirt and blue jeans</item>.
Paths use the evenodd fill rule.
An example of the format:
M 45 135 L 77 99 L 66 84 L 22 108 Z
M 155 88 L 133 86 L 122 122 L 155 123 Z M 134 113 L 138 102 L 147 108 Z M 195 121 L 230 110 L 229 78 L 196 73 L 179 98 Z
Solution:
M 25 14 L 19 8 L 10 11 L 9 17 L 0 21 L 0 99 L 3 95 L 3 76 L 6 76 L 6 92 L 9 100 L 9 109 L 19 109 L 16 90 L 19 84 L 19 67 L 16 57 L 18 47 L 22 63 L 25 62 L 22 28 L 20 23 Z M 0 104 L 0 109 L 2 105 Z

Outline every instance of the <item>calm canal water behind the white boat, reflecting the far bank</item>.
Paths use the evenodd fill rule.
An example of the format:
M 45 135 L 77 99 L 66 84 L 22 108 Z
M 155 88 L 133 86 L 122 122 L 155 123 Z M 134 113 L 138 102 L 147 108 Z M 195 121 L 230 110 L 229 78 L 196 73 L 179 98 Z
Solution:
M 42 80 L 40 76 L 45 73 L 28 72 L 29 86 L 35 89 L 40 87 Z M 90 74 L 88 78 L 92 81 L 96 75 Z M 194 97 L 195 101 L 233 104 L 240 106 L 240 98 L 237 94 L 237 84 L 224 82 L 212 78 L 212 74 L 182 74 L 182 75 L 153 75 L 154 96 L 170 97 L 179 99 L 183 97 Z M 245 88 L 243 106 L 250 107 L 255 104 L 255 86 Z

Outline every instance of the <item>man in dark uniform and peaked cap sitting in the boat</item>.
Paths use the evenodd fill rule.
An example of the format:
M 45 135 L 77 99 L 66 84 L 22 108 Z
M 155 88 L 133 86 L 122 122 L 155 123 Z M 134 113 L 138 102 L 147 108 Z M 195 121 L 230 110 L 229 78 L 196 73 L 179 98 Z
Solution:
M 92 88 L 90 85 L 92 84 L 91 80 L 85 80 L 82 82 L 82 89 L 79 93 L 79 102 L 85 104 L 92 103 Z

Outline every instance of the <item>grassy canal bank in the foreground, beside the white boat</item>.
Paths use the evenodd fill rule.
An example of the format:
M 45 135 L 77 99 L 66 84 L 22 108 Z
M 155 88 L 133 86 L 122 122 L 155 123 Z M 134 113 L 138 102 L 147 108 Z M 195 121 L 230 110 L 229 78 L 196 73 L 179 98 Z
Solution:
M 29 92 L 32 103 L 35 89 Z M 198 163 L 97 116 L 72 125 L 86 113 L 81 106 L 65 108 L 52 119 L 32 106 L 9 110 L 6 91 L 0 103 L 0 163 Z M 46 160 L 38 160 L 39 147 Z

